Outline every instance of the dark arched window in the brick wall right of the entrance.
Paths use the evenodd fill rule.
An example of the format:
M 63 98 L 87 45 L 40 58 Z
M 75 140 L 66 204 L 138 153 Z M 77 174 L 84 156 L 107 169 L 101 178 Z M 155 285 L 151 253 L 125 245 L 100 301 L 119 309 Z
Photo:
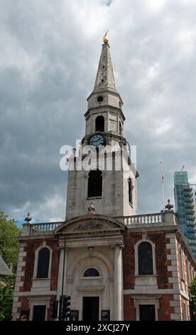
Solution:
M 138 274 L 153 274 L 153 249 L 149 242 L 138 246 Z

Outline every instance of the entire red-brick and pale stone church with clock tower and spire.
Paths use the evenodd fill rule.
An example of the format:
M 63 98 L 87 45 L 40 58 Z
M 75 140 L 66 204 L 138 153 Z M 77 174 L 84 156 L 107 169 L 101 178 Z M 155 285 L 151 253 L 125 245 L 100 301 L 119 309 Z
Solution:
M 122 105 L 105 35 L 79 157 L 73 150 L 68 160 L 65 221 L 35 224 L 28 216 L 18 237 L 13 321 L 55 320 L 53 301 L 63 294 L 70 296 L 70 320 L 191 319 L 195 259 L 169 202 L 165 211 L 137 213 L 139 175 L 124 137 Z M 88 145 L 96 163 L 78 168 Z M 99 155 L 106 157 L 99 147 L 119 148 L 109 153 L 110 168 L 97 168 Z

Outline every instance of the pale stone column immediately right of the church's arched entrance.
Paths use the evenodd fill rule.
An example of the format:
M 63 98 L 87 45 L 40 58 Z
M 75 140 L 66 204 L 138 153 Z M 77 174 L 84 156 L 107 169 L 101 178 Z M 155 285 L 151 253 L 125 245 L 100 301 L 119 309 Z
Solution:
M 114 320 L 123 319 L 123 281 L 121 246 L 114 247 Z

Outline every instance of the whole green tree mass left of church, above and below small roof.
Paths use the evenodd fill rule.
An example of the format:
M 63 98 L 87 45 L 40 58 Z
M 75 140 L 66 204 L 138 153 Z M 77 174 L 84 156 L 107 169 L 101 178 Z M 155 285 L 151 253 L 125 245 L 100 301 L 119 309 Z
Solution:
M 15 220 L 8 220 L 7 215 L 0 211 L 0 254 L 6 264 L 12 264 L 13 275 L 1 279 L 0 285 L 0 320 L 11 320 L 13 291 L 16 280 L 18 262 L 18 235 L 21 230 Z

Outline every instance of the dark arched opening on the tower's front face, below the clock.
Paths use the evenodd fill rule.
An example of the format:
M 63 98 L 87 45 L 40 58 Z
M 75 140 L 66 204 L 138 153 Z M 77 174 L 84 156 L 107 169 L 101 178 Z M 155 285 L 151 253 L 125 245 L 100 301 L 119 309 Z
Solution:
M 102 171 L 91 170 L 88 180 L 88 197 L 102 196 Z

